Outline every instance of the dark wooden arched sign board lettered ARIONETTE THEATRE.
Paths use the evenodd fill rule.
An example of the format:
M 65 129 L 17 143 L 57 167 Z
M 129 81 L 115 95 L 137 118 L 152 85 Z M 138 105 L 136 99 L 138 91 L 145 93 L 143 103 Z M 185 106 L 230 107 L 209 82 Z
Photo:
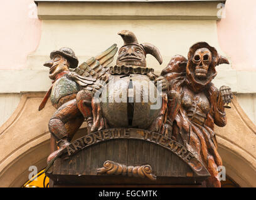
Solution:
M 99 174 L 105 161 L 122 166 L 149 165 L 155 180 L 126 173 Z M 105 129 L 77 139 L 46 168 L 55 185 L 195 185 L 210 176 L 205 166 L 181 144 L 142 129 Z

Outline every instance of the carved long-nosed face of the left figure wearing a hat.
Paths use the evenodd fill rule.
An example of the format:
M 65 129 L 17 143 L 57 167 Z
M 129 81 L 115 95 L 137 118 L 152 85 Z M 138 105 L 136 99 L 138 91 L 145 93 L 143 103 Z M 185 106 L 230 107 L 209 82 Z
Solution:
M 56 54 L 50 61 L 46 61 L 44 66 L 50 68 L 49 78 L 55 79 L 55 76 L 63 71 L 68 71 L 70 63 L 60 54 Z

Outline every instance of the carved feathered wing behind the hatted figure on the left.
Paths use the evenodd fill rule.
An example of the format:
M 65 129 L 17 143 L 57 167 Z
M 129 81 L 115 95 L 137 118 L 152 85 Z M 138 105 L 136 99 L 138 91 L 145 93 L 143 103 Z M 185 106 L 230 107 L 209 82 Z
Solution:
M 68 76 L 77 82 L 83 89 L 92 90 L 93 84 L 108 71 L 107 66 L 114 60 L 117 53 L 117 44 L 113 44 L 98 56 L 88 59 L 69 73 Z

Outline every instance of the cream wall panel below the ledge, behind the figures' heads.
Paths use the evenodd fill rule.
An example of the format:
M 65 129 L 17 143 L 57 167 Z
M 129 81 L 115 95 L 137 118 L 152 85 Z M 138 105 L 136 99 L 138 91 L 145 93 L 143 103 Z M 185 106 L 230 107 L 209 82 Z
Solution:
M 28 61 L 29 69 L 44 69 L 41 62 L 48 58 L 38 58 L 48 57 L 53 49 L 62 46 L 71 47 L 80 63 L 90 56 L 96 56 L 114 43 L 120 47 L 123 41 L 117 32 L 123 29 L 134 32 L 139 42 L 151 42 L 159 48 L 163 56 L 162 66 L 159 66 L 151 55 L 147 56 L 147 66 L 152 66 L 159 72 L 175 54 L 186 56 L 189 47 L 197 41 L 208 41 L 220 49 L 214 20 L 45 20 L 42 26 L 40 45 L 35 53 L 29 56 L 33 61 Z

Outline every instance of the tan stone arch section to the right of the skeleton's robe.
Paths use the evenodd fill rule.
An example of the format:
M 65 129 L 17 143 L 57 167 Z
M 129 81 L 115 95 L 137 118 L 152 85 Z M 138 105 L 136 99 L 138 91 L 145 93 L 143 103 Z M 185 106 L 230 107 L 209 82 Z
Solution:
M 256 187 L 256 126 L 237 102 L 227 109 L 228 123 L 215 128 L 226 173 L 241 187 Z

